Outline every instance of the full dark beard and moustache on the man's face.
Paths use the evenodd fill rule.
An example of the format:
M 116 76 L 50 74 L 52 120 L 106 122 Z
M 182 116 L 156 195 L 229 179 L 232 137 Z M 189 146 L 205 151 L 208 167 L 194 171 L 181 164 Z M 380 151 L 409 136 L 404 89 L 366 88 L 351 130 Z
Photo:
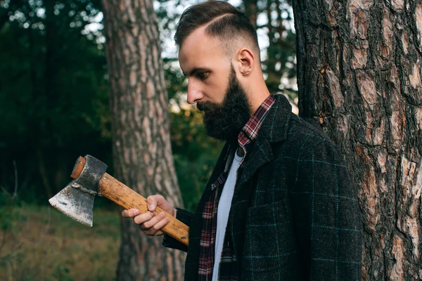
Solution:
M 250 119 L 250 104 L 233 67 L 223 102 L 205 101 L 196 105 L 202 111 L 208 136 L 222 141 L 234 141 Z

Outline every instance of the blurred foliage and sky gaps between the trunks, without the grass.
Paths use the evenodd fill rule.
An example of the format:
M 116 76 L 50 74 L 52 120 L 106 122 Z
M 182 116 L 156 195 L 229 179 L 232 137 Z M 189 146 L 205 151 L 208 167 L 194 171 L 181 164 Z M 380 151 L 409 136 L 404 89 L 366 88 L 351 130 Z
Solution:
M 37 204 L 46 204 L 68 183 L 79 155 L 101 159 L 113 174 L 101 5 L 84 0 L 54 2 L 46 6 L 43 1 L 10 0 L 0 6 L 0 185 L 13 192 L 17 181 L 19 199 Z M 206 136 L 202 115 L 186 104 L 186 79 L 172 37 L 181 11 L 199 1 L 183 2 L 155 1 L 154 7 L 165 63 L 173 156 L 185 205 L 192 209 L 222 143 Z M 258 1 L 250 17 L 259 25 L 271 92 L 286 93 L 294 103 L 293 12 L 288 3 L 276 2 Z M 245 3 L 233 4 L 245 10 Z

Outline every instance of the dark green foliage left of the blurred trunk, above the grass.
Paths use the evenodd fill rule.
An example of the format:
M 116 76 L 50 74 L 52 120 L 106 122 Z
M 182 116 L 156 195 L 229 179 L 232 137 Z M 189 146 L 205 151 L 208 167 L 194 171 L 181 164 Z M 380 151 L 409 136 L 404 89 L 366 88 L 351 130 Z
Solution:
M 12 185 L 16 161 L 20 197 L 44 201 L 77 155 L 110 159 L 106 58 L 86 29 L 96 1 L 18 4 L 0 30 L 0 185 Z

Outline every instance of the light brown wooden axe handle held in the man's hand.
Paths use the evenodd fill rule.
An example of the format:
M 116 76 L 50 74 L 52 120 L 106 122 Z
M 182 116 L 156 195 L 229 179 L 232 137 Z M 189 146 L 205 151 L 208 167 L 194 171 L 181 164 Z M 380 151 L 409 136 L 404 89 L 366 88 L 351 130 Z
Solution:
M 76 179 L 79 176 L 84 168 L 85 162 L 86 160 L 84 157 L 79 157 L 77 164 L 73 169 L 71 175 L 72 178 Z M 120 181 L 117 181 L 113 178 L 113 176 L 110 176 L 107 173 L 105 173 L 100 179 L 98 192 L 100 192 L 104 197 L 107 197 L 111 201 L 122 206 L 124 209 L 139 209 L 141 214 L 148 211 L 146 198 L 128 188 Z M 155 208 L 154 214 L 160 214 L 161 212 L 163 212 L 167 218 L 170 218 L 169 223 L 161 229 L 162 232 L 188 246 L 188 226 L 174 218 L 174 216 L 168 214 L 166 211 L 162 210 L 160 207 Z

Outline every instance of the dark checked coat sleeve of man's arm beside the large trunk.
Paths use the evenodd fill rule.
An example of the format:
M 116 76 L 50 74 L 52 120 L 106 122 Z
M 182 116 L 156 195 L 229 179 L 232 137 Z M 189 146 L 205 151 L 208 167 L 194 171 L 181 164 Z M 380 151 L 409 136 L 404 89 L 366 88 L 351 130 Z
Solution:
M 298 163 L 291 205 L 305 280 L 361 280 L 361 212 L 343 156 L 324 140 Z

